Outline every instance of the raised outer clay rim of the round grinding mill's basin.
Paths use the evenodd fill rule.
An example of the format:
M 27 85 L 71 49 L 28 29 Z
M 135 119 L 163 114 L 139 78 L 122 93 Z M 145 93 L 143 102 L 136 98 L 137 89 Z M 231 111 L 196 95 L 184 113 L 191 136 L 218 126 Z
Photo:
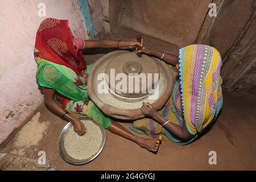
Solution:
M 139 119 L 139 118 L 144 118 L 144 115 L 141 113 L 141 108 L 138 109 L 118 109 L 116 107 L 110 106 L 109 104 L 104 104 L 97 96 L 95 90 L 93 89 L 93 73 L 95 72 L 95 70 L 101 65 L 101 62 L 106 60 L 109 57 L 112 56 L 116 56 L 119 55 L 121 53 L 127 53 L 129 51 L 113 51 L 110 52 L 102 57 L 100 57 L 100 59 L 98 59 L 96 61 L 96 63 L 94 63 L 92 69 L 90 70 L 90 73 L 88 75 L 88 81 L 87 81 L 87 88 L 88 88 L 88 96 L 90 98 L 90 100 L 92 100 L 94 102 L 94 104 L 96 104 L 102 111 L 103 113 L 105 113 L 106 115 L 109 115 L 110 117 L 113 118 L 118 118 L 118 119 L 127 119 L 127 120 L 135 120 L 135 119 Z M 152 57 L 154 58 L 154 57 Z M 166 89 L 164 90 L 164 93 L 162 96 L 160 96 L 158 98 L 158 100 L 156 100 L 152 106 L 154 106 L 154 108 L 156 110 L 160 110 L 162 109 L 162 107 L 166 104 L 166 102 L 168 101 L 168 99 L 171 97 L 171 93 L 172 93 L 172 89 L 174 86 L 174 76 L 172 76 L 172 73 L 170 71 L 170 69 L 168 69 L 167 64 L 164 63 L 164 61 L 161 61 L 159 59 L 154 58 L 156 61 L 158 61 L 158 65 L 159 67 L 162 67 L 162 69 L 165 71 L 165 73 L 163 73 L 164 75 L 166 75 Z

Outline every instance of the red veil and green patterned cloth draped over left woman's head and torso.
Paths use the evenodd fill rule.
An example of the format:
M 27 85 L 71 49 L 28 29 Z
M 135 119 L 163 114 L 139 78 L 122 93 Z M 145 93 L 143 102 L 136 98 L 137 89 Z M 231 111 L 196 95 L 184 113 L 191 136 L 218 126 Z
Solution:
M 68 20 L 44 19 L 36 32 L 36 80 L 74 101 L 88 100 L 86 63 L 82 51 L 76 52 Z M 69 68 L 69 69 L 66 69 Z

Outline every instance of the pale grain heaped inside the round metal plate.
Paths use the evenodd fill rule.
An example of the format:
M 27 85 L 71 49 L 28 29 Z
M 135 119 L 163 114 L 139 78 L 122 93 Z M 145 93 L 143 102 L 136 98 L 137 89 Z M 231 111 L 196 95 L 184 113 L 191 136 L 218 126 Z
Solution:
M 90 120 L 81 120 L 84 123 L 86 133 L 79 136 L 69 129 L 64 138 L 64 147 L 68 155 L 77 160 L 88 159 L 99 150 L 102 142 L 100 127 Z

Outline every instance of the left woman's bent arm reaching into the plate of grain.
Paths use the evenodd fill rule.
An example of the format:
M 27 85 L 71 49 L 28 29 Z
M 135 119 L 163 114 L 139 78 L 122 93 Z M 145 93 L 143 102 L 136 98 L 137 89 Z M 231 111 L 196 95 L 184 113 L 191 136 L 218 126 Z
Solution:
M 59 104 L 57 104 L 57 102 L 53 99 L 55 90 L 44 87 L 43 92 L 44 92 L 44 102 L 48 107 L 48 109 L 51 110 L 53 113 L 61 116 L 65 110 Z M 79 121 L 79 119 L 72 117 L 72 115 L 70 114 L 66 114 L 64 116 L 64 119 L 67 119 L 67 121 L 72 123 L 72 125 L 74 126 L 74 130 L 77 134 L 79 135 L 85 134 L 85 131 L 86 131 L 85 126 L 81 121 Z

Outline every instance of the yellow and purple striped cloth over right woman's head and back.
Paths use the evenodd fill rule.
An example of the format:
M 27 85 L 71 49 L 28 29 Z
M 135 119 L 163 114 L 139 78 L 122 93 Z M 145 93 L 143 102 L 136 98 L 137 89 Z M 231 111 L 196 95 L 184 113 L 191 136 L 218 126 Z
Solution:
M 196 44 L 179 51 L 181 113 L 192 135 L 204 130 L 221 109 L 221 65 L 214 47 Z

